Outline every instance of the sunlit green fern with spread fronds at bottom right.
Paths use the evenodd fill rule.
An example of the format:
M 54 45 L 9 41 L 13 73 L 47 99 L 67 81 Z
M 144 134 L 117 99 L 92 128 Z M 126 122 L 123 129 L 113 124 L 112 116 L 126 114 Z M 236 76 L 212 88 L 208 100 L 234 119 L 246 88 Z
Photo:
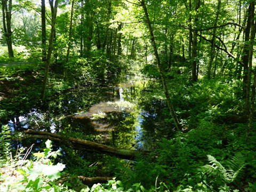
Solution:
M 226 169 L 215 157 L 207 155 L 208 161 L 211 165 L 204 165 L 204 170 L 211 177 L 218 180 L 220 178 L 225 183 L 234 182 L 239 174 L 242 173 L 245 167 L 245 159 L 241 154 L 235 155 L 230 161 L 227 162 L 228 169 Z

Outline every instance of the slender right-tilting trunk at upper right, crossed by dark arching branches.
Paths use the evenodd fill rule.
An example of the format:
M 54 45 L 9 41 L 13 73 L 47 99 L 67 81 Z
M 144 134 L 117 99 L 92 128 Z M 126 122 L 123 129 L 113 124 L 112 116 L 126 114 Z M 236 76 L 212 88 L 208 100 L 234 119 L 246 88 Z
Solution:
M 208 65 L 208 71 L 207 71 L 207 78 L 211 79 L 211 70 L 212 70 L 212 62 L 214 59 L 214 54 L 215 54 L 215 39 L 216 39 L 216 26 L 217 22 L 219 20 L 219 14 L 220 14 L 220 5 L 221 5 L 221 0 L 218 0 L 218 5 L 217 5 L 217 13 L 213 25 L 213 33 L 212 33 L 212 43 L 211 43 L 211 51 L 210 51 L 210 61 Z

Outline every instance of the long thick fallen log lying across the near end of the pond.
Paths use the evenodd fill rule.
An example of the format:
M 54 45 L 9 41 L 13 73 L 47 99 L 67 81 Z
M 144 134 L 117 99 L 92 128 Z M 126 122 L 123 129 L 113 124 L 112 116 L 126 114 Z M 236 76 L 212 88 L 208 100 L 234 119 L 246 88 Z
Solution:
M 84 149 L 87 151 L 94 151 L 96 153 L 103 153 L 108 155 L 113 155 L 118 158 L 134 160 L 137 155 L 149 155 L 150 151 L 139 151 L 139 150 L 130 150 L 130 149 L 119 149 L 115 147 L 110 147 L 102 145 L 100 143 L 87 141 L 83 139 L 76 139 L 73 137 L 65 137 L 62 135 L 44 132 L 44 131 L 34 131 L 26 130 L 24 131 L 31 138 L 39 139 L 50 139 L 52 141 L 58 141 L 63 143 L 66 146 L 70 146 L 76 149 Z

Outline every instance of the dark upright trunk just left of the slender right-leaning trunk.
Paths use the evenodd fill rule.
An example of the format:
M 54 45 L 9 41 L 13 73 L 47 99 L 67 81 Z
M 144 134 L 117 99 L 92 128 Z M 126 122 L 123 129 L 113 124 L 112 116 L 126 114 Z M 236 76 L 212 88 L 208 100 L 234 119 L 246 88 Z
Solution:
M 46 61 L 46 18 L 45 18 L 45 0 L 41 1 L 41 26 L 42 26 L 42 61 Z

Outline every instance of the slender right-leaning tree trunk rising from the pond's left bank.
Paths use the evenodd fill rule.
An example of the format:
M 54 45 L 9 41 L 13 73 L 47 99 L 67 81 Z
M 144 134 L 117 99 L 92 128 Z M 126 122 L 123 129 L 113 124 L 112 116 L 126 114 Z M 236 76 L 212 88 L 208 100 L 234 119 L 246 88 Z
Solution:
M 50 2 L 53 4 L 53 0 Z M 52 14 L 52 26 L 51 26 L 51 35 L 49 39 L 49 47 L 47 52 L 47 58 L 45 62 L 45 71 L 44 71 L 44 81 L 43 81 L 43 90 L 42 90 L 42 99 L 45 99 L 45 91 L 46 91 L 46 84 L 47 84 L 47 76 L 49 72 L 49 66 L 51 61 L 51 55 L 52 55 L 52 49 L 53 49 L 53 38 L 55 33 L 55 23 L 56 23 L 56 17 L 57 17 L 57 9 L 58 9 L 58 3 L 59 0 L 55 0 L 53 14 Z

